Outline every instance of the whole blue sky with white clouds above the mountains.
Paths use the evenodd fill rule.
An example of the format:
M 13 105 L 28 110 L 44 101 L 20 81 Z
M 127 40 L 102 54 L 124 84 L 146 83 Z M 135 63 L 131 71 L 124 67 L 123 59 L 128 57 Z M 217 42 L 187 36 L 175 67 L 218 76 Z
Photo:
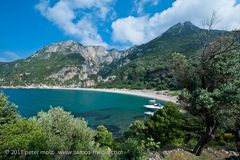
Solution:
M 240 28 L 240 0 L 7 0 L 0 1 L 0 62 L 30 56 L 67 40 L 123 50 L 185 21 Z

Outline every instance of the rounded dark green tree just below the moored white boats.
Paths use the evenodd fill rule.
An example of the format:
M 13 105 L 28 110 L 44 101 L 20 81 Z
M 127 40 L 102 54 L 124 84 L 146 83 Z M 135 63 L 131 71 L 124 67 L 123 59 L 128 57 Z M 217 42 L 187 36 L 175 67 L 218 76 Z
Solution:
M 147 135 L 161 145 L 181 145 L 185 137 L 184 124 L 184 117 L 177 106 L 168 103 L 147 120 Z

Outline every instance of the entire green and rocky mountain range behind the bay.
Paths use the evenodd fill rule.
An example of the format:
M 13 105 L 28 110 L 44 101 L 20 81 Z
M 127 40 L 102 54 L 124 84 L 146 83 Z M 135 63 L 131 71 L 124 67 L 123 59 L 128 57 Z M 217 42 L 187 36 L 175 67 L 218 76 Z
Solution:
M 0 86 L 62 85 L 124 88 L 174 88 L 167 59 L 171 53 L 196 54 L 206 31 L 178 23 L 152 41 L 125 51 L 66 41 L 43 47 L 27 59 L 0 63 Z M 213 30 L 211 37 L 227 33 Z

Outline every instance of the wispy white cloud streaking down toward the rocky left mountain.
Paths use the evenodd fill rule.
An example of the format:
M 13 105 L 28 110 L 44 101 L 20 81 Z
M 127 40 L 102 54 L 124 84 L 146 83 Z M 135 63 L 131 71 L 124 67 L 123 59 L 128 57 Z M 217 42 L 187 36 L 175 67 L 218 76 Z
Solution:
M 51 6 L 49 0 L 41 0 L 36 8 L 65 34 L 81 43 L 107 46 L 98 33 L 95 21 L 104 21 L 112 11 L 112 4 L 113 0 L 59 0 Z

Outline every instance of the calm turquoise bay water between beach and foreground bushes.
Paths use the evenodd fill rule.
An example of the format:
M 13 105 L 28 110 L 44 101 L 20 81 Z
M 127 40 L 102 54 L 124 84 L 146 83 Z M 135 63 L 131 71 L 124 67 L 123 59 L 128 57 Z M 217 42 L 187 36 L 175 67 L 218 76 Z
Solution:
M 50 106 L 61 106 L 76 117 L 84 117 L 90 127 L 103 124 L 115 135 L 136 119 L 144 118 L 143 105 L 149 98 L 125 94 L 51 89 L 2 89 L 18 105 L 24 117 L 36 116 Z

